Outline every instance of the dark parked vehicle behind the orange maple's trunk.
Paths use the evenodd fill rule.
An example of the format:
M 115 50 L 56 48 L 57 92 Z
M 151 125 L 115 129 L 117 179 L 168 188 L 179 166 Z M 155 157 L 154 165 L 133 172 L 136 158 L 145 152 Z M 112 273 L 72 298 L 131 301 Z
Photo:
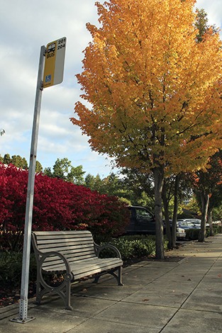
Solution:
M 131 211 L 131 222 L 126 228 L 126 235 L 146 234 L 155 235 L 155 216 L 147 208 L 140 206 L 129 206 Z M 165 232 L 165 223 L 163 222 Z M 186 237 L 186 232 L 182 228 L 177 228 L 177 237 Z

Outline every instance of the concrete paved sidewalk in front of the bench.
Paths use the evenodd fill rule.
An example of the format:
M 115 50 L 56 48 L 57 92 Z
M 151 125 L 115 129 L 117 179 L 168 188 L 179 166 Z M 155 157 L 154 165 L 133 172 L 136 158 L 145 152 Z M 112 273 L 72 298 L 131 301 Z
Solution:
M 180 261 L 143 261 L 123 269 L 124 286 L 103 277 L 72 287 L 73 310 L 57 296 L 28 304 L 18 324 L 18 304 L 0 309 L 0 332 L 13 333 L 205 333 L 222 332 L 222 235 L 189 242 L 167 256 Z

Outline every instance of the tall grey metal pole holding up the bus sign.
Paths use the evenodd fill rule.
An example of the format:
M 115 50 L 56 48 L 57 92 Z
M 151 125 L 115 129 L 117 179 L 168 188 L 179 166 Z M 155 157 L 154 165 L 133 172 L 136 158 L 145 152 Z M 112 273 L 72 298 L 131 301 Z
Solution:
M 45 46 L 40 48 L 40 60 L 38 67 L 38 81 L 35 94 L 35 110 L 33 117 L 33 133 L 30 146 L 30 163 L 28 169 L 28 190 L 26 198 L 26 220 L 23 241 L 23 266 L 21 276 L 21 299 L 19 304 L 19 317 L 11 321 L 25 323 L 35 319 L 34 317 L 28 318 L 28 278 L 29 278 L 29 264 L 30 264 L 30 238 L 32 229 L 33 218 L 33 196 L 35 184 L 35 164 L 38 143 L 38 128 L 40 122 L 40 106 L 42 101 L 43 92 L 43 70 L 45 62 Z

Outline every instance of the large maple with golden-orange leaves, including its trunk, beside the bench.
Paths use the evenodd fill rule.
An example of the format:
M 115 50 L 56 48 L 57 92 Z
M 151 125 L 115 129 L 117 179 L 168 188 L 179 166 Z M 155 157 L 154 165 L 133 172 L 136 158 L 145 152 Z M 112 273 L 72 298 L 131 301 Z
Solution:
M 222 51 L 209 29 L 197 43 L 194 0 L 96 2 L 100 27 L 77 75 L 84 94 L 71 118 L 91 148 L 117 166 L 153 172 L 156 255 L 164 256 L 165 174 L 200 169 L 221 145 Z

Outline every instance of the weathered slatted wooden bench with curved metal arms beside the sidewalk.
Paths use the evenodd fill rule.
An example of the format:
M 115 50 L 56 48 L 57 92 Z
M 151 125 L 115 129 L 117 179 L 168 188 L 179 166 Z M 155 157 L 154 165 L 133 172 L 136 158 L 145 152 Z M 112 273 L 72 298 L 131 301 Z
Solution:
M 111 244 L 99 247 L 94 243 L 91 232 L 84 231 L 38 231 L 32 232 L 32 244 L 37 261 L 36 303 L 40 304 L 45 293 L 60 295 L 65 309 L 70 305 L 71 283 L 84 277 L 94 277 L 94 282 L 104 273 L 114 276 L 123 286 L 121 254 Z M 99 258 L 103 249 L 112 249 L 116 257 Z M 50 286 L 44 274 L 62 274 L 64 280 L 59 286 Z

